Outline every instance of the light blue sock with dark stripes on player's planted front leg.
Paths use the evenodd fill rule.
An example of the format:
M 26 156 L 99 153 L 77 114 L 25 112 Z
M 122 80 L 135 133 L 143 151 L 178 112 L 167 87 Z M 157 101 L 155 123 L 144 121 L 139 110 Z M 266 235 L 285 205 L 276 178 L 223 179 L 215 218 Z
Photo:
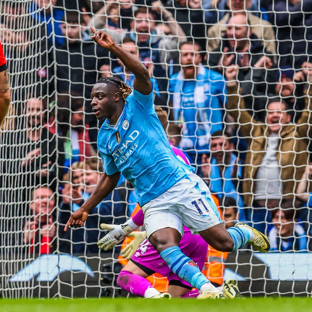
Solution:
M 205 283 L 210 283 L 197 265 L 195 266 L 194 263 L 189 263 L 192 259 L 185 256 L 180 247 L 169 247 L 163 250 L 160 256 L 166 261 L 173 273 L 187 281 L 193 287 L 200 289 Z

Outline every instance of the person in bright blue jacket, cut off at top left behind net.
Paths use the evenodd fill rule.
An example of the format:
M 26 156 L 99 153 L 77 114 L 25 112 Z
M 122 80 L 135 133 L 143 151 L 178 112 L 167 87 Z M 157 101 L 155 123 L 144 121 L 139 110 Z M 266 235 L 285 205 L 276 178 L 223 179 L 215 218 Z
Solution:
M 38 24 L 45 25 L 50 44 L 60 47 L 64 43 L 60 29 L 64 12 L 54 7 L 55 4 L 56 0 L 33 0 L 28 7 L 28 13 Z

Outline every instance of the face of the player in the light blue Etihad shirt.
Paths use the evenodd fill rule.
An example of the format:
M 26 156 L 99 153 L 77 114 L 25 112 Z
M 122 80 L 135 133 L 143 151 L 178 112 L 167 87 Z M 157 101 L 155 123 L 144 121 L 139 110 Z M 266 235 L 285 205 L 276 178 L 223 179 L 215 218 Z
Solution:
M 97 119 L 106 119 L 114 115 L 120 93 L 117 88 L 106 83 L 97 83 L 92 88 L 91 106 Z

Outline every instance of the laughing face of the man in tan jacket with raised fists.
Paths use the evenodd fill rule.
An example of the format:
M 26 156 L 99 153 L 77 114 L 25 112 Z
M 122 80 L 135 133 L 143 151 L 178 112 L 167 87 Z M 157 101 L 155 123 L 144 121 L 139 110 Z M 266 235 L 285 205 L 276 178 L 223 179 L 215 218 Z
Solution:
M 285 110 L 285 105 L 280 102 L 273 102 L 268 105 L 266 123 L 273 133 L 278 133 L 284 124 L 290 122 L 291 117 Z

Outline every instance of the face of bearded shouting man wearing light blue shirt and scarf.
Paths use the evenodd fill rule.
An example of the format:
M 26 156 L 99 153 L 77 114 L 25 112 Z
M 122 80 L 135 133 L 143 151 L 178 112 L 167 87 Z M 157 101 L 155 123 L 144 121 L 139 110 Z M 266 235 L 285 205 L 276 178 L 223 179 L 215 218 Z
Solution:
M 193 44 L 183 44 L 180 48 L 180 64 L 186 78 L 194 77 L 195 67 L 202 61 L 198 51 L 198 46 Z

